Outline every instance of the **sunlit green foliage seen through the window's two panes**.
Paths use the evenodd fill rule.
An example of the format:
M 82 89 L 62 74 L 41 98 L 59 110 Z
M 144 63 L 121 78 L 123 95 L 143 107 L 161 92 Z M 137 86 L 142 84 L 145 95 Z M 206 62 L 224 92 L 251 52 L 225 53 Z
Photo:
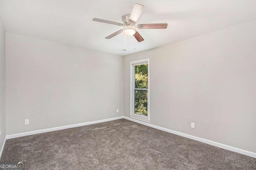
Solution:
M 140 90 L 144 89 L 144 90 Z M 146 90 L 145 90 L 146 89 Z M 148 65 L 135 66 L 134 113 L 148 115 Z

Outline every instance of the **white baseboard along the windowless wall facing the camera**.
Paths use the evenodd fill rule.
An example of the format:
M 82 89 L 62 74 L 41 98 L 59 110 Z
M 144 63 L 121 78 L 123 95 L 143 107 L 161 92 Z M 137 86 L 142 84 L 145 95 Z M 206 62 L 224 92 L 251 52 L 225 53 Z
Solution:
M 114 120 L 123 119 L 123 118 L 124 118 L 123 116 L 120 116 L 120 117 L 114 117 L 114 118 L 110 118 L 110 119 L 103 119 L 103 120 L 99 120 L 99 121 L 92 121 L 92 122 L 86 122 L 86 123 L 78 123 L 78 124 L 66 125 L 66 126 L 62 126 L 62 127 L 46 128 L 46 129 L 34 130 L 34 131 L 30 131 L 30 132 L 10 134 L 10 135 L 6 135 L 6 139 L 18 138 L 18 137 L 21 137 L 21 136 L 28 136 L 28 135 L 31 135 L 31 134 L 51 132 L 51 131 L 55 131 L 55 130 L 62 130 L 62 129 L 66 129 L 66 128 L 81 127 L 81 126 L 85 126 L 85 125 L 92 125 L 92 124 L 95 124 L 95 123 L 114 121 Z

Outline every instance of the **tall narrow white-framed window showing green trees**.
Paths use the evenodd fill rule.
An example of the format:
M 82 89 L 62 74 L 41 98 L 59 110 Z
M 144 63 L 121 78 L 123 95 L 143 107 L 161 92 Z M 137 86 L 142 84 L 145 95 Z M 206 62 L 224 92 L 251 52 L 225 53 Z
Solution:
M 132 61 L 130 117 L 149 123 L 149 59 Z

